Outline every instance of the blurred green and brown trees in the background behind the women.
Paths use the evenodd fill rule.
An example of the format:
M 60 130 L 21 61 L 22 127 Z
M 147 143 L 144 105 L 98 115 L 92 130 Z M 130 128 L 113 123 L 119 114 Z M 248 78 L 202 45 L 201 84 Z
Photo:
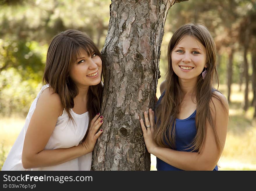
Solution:
M 40 90 L 51 38 L 74 28 L 86 33 L 102 49 L 109 24 L 111 0 L 0 0 L 1 115 L 26 115 Z M 132 11 L 132 10 L 131 10 Z M 159 83 L 167 71 L 167 46 L 182 24 L 207 26 L 217 48 L 221 84 L 244 83 L 243 108 L 256 107 L 256 0 L 197 0 L 171 7 L 161 47 Z M 251 86 L 250 86 L 251 84 Z M 253 91 L 249 102 L 248 91 Z M 256 113 L 254 115 L 256 117 Z

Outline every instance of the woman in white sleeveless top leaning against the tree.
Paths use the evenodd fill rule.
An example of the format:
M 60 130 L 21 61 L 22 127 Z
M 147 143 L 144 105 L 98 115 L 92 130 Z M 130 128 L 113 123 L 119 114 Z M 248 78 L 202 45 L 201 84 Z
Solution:
M 103 130 L 105 63 L 84 33 L 67 30 L 49 45 L 43 85 L 2 170 L 90 170 Z

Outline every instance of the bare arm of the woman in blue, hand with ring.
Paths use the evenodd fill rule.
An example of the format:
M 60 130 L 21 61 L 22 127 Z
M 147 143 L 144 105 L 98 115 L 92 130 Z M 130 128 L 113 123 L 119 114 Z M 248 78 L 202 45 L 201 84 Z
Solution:
M 224 103 L 225 108 L 228 110 L 228 103 L 226 98 L 220 94 L 216 93 L 221 98 Z M 144 140 L 147 146 L 147 149 L 150 153 L 157 156 L 157 158 L 163 160 L 164 162 L 177 167 L 183 170 L 213 170 L 216 166 L 221 153 L 224 149 L 226 135 L 227 135 L 227 124 L 228 124 L 228 115 L 223 111 L 223 107 L 221 103 L 213 98 L 213 102 L 216 107 L 216 111 L 214 110 L 213 104 L 210 105 L 213 119 L 215 120 L 215 128 L 218 135 L 218 138 L 221 143 L 221 152 L 218 153 L 217 145 L 214 138 L 214 132 L 211 129 L 209 122 L 207 122 L 206 126 L 206 141 L 205 145 L 202 149 L 202 152 L 186 152 L 186 151 L 176 151 L 169 148 L 163 148 L 156 146 L 156 144 L 152 143 L 152 135 L 154 133 L 153 128 L 146 129 L 143 122 L 141 122 Z M 150 114 L 150 125 L 154 122 L 151 120 L 154 116 L 154 113 Z M 147 125 L 146 120 L 147 116 L 145 116 L 145 123 Z M 143 127 L 144 126 L 144 127 Z M 154 126 L 154 124 L 153 124 Z

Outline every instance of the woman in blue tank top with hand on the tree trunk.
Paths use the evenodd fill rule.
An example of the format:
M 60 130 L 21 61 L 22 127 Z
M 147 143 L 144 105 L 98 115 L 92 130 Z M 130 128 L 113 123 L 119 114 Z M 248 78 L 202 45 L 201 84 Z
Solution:
M 168 72 L 155 107 L 140 119 L 157 170 L 218 170 L 228 125 L 228 102 L 213 88 L 216 48 L 207 27 L 185 24 L 168 46 Z M 149 117 L 148 117 L 149 114 Z

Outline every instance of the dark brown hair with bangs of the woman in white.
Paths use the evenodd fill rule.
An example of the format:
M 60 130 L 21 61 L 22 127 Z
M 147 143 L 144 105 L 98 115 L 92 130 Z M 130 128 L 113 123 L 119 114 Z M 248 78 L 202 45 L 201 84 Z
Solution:
M 61 98 L 61 102 L 74 124 L 70 109 L 74 107 L 74 98 L 78 95 L 78 89 L 69 77 L 70 66 L 79 56 L 79 49 L 82 48 L 88 55 L 95 53 L 102 60 L 102 74 L 105 74 L 105 60 L 93 41 L 84 33 L 69 29 L 54 36 L 46 58 L 43 83 L 49 84 L 55 93 Z M 102 83 L 91 85 L 88 90 L 87 109 L 89 122 L 99 112 L 102 102 Z

